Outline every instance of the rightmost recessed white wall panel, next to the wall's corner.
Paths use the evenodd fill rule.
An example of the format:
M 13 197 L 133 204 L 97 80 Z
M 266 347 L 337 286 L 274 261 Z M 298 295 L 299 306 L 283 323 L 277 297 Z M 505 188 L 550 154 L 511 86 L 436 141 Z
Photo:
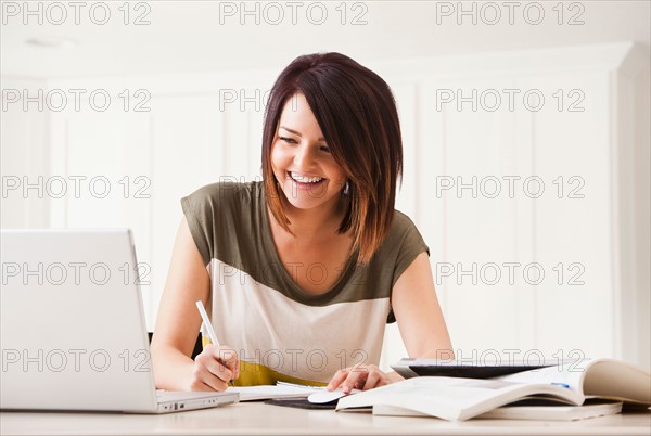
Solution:
M 546 94 L 559 89 L 585 94 L 579 103 L 583 112 L 544 111 L 532 117 L 533 169 L 550 193 L 534 202 L 534 256 L 546 266 L 550 279 L 533 290 L 539 330 L 536 338 L 547 352 L 577 349 L 587 356 L 611 356 L 615 354 L 610 267 L 610 187 L 614 180 L 610 172 L 609 75 L 539 76 L 527 79 L 525 86 L 529 85 Z M 565 100 L 567 104 L 573 99 Z M 559 177 L 563 177 L 562 183 Z M 586 302 L 590 302 L 588 310 Z M 590 325 L 602 325 L 602 332 L 586 334 Z M 563 333 L 567 330 L 582 334 Z

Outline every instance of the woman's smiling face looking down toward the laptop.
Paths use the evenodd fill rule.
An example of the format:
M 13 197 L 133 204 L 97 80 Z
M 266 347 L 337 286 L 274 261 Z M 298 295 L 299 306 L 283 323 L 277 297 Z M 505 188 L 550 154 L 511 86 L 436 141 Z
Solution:
M 290 204 L 298 209 L 336 205 L 346 176 L 334 162 L 305 95 L 288 99 L 271 148 L 271 166 Z

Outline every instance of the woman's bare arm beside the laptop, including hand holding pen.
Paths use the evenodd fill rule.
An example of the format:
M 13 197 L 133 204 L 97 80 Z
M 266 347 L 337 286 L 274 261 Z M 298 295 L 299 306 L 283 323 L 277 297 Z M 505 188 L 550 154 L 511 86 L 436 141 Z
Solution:
M 151 351 L 156 387 L 166 390 L 225 390 L 239 372 L 238 355 L 209 345 L 190 356 L 201 326 L 195 302 L 204 306 L 210 277 L 183 217 L 174 244 Z

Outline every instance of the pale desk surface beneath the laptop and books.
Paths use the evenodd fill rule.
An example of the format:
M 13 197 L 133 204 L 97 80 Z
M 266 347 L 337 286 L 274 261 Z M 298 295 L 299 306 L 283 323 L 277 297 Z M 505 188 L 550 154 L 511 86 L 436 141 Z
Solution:
M 2 435 L 651 435 L 651 413 L 574 422 L 373 416 L 246 402 L 162 415 L 0 413 Z

